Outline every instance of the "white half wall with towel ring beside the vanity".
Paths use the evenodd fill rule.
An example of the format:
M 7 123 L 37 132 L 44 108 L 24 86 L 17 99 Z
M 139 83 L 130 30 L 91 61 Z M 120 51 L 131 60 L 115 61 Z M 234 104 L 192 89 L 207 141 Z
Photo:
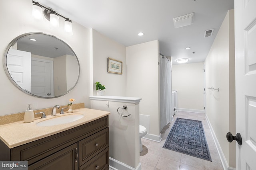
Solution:
M 108 103 L 108 106 L 106 105 Z M 140 138 L 139 138 L 139 107 L 140 98 L 96 96 L 91 98 L 92 109 L 109 111 L 109 157 L 110 166 L 118 170 L 128 168 L 118 165 L 118 161 L 134 168 L 140 167 Z M 119 112 L 128 117 L 120 116 Z M 113 160 L 114 159 L 114 160 Z

